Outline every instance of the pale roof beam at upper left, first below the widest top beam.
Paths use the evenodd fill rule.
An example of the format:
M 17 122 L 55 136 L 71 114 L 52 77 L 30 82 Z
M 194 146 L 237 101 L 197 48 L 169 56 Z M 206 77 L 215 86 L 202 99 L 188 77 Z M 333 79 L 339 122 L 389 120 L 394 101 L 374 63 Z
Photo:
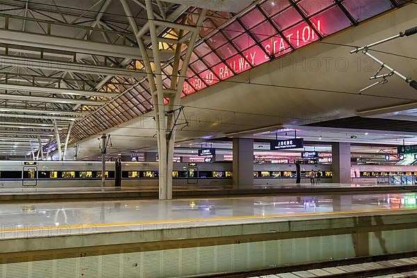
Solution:
M 66 63 L 56 60 L 44 60 L 36 58 L 26 58 L 19 56 L 0 55 L 0 65 L 10 65 L 15 67 L 31 67 L 40 70 L 60 70 L 65 72 L 79 72 L 82 74 L 96 75 L 115 75 L 122 77 L 140 78 L 145 76 L 145 72 L 140 70 L 126 70 L 120 67 L 104 67 L 99 65 L 87 65 L 81 63 Z

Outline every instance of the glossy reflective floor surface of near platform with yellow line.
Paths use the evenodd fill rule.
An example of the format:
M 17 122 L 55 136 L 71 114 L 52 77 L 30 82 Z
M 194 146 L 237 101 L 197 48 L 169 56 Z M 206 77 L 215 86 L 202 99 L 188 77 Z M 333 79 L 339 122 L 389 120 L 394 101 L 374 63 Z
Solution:
M 2 238 L 134 231 L 144 225 L 242 224 L 409 210 L 416 193 L 0 204 Z M 30 233 L 28 233 L 30 231 Z

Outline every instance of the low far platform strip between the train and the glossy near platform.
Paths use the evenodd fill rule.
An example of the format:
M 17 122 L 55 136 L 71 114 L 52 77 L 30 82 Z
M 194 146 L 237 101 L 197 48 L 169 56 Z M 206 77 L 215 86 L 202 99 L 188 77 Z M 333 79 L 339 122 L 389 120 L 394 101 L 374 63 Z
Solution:
M 286 184 L 281 186 L 259 185 L 248 189 L 233 189 L 232 186 L 220 188 L 196 188 L 183 186 L 173 191 L 174 198 L 188 197 L 238 197 L 264 195 L 300 194 L 357 194 L 357 193 L 407 193 L 417 190 L 415 185 L 375 184 L 375 183 L 321 183 Z M 157 188 L 138 187 L 76 187 L 76 188 L 0 188 L 0 202 L 65 202 L 89 201 L 93 199 L 157 199 Z

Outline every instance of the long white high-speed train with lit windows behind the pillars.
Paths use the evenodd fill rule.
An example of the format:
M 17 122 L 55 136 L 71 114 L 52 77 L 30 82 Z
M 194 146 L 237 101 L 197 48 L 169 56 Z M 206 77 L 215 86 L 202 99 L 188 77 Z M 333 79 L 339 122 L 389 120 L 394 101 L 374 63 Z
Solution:
M 106 162 L 106 186 L 116 179 L 124 187 L 154 189 L 158 187 L 157 162 Z M 99 161 L 0 161 L 0 188 L 77 188 L 101 186 Z M 231 162 L 174 163 L 174 188 L 229 188 L 232 185 Z M 322 183 L 332 182 L 332 165 L 305 164 L 300 167 L 302 183 L 309 183 L 311 170 L 322 172 Z M 117 172 L 119 171 L 119 172 Z M 294 184 L 294 164 L 254 163 L 254 186 Z M 417 177 L 417 166 L 352 165 L 352 182 L 375 182 L 377 177 L 404 175 Z

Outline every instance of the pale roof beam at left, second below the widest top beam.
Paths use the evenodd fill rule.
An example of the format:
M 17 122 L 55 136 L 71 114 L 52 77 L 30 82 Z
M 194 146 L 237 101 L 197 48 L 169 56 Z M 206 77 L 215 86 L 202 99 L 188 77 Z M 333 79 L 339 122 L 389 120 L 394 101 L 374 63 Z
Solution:
M 63 89 L 63 88 L 51 88 L 51 87 L 39 87 L 29 85 L 17 85 L 10 83 L 0 83 L 0 90 L 17 90 L 23 92 L 42 92 L 44 94 L 51 95 L 70 95 L 70 96 L 81 96 L 81 97 L 105 97 L 112 98 L 117 97 L 117 93 L 112 92 L 95 92 L 85 90 L 74 90 L 74 89 Z

